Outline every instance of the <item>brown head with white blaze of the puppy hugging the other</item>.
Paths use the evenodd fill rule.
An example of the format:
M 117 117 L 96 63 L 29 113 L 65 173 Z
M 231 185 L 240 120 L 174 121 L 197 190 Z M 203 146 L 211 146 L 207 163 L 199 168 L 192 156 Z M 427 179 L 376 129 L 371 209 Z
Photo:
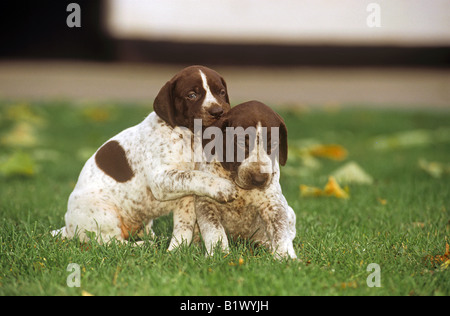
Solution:
M 194 119 L 210 126 L 230 110 L 225 80 L 204 66 L 184 68 L 159 91 L 153 108 L 170 126 L 194 128 Z

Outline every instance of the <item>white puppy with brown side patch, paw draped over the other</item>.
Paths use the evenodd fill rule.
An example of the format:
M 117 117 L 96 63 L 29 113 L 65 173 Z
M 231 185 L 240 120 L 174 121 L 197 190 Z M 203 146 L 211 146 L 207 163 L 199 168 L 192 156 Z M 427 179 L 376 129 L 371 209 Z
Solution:
M 194 197 L 217 202 L 235 198 L 234 184 L 204 171 L 182 157 L 182 135 L 192 134 L 195 118 L 204 126 L 230 109 L 225 80 L 212 69 L 191 66 L 168 81 L 144 121 L 112 137 L 89 158 L 69 197 L 66 226 L 54 235 L 86 240 L 126 241 L 151 229 L 154 218 L 174 212 L 169 249 L 189 243 L 195 225 Z

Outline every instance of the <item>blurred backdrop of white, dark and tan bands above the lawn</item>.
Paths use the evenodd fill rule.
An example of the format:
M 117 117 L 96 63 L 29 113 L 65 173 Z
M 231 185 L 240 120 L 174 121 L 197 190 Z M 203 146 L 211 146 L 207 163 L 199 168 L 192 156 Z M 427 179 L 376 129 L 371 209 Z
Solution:
M 0 38 L 3 99 L 152 104 L 202 64 L 234 104 L 450 108 L 448 0 L 4 0 Z

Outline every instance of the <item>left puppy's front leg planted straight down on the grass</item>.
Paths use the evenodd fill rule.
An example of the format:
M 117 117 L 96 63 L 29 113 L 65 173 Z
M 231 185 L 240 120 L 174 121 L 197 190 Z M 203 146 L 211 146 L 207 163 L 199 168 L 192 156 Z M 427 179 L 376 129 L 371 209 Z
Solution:
M 195 220 L 194 196 L 181 198 L 173 210 L 173 233 L 169 251 L 191 243 Z

